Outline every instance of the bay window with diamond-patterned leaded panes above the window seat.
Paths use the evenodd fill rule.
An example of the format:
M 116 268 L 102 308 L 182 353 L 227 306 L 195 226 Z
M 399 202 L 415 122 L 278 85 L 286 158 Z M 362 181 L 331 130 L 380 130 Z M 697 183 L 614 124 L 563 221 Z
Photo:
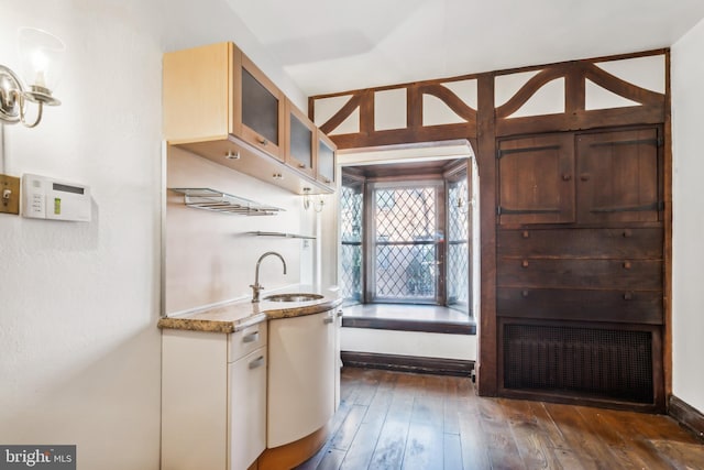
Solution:
M 339 283 L 348 305 L 426 304 L 471 318 L 479 221 L 470 164 L 343 168 Z

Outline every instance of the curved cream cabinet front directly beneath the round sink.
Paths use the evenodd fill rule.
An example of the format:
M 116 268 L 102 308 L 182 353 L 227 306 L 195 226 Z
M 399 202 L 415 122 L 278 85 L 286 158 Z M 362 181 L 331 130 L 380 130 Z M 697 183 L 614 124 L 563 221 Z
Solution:
M 320 429 L 336 411 L 334 310 L 268 323 L 267 447 Z

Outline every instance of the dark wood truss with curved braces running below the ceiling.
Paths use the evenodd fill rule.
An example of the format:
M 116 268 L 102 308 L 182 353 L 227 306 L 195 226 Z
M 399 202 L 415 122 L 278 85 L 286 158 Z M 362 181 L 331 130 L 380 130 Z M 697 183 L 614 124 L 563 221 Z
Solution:
M 483 118 L 493 117 L 495 135 L 512 135 L 534 132 L 554 132 L 603 128 L 609 125 L 642 124 L 664 122 L 666 92 L 630 84 L 623 78 L 612 75 L 597 64 L 616 62 L 619 59 L 646 56 L 663 56 L 667 51 L 651 51 L 640 54 L 594 58 L 552 64 L 541 67 L 528 67 L 514 70 L 492 72 L 487 74 L 466 75 L 440 80 L 411 83 L 391 87 L 367 88 L 333 95 L 321 95 L 309 98 L 309 114 L 316 120 L 320 129 L 330 134 L 340 149 L 377 146 L 397 143 L 428 142 L 448 139 L 475 140 L 480 133 L 477 123 L 481 113 Z M 497 106 L 494 101 L 495 87 L 502 77 L 534 72 L 529 78 L 506 102 Z M 662 70 L 664 74 L 666 70 Z M 466 99 L 458 96 L 451 89 L 452 84 L 474 80 L 477 84 L 476 102 L 488 98 L 484 102 L 492 102 L 488 109 L 472 107 Z M 536 97 L 543 87 L 562 81 L 563 112 L 551 112 L 537 116 L 514 117 L 526 103 Z M 600 87 L 614 96 L 632 101 L 631 106 L 619 106 L 608 109 L 587 108 L 587 84 Z M 375 125 L 375 97 L 385 91 L 405 91 L 406 122 L 397 129 L 378 130 Z M 447 124 L 424 124 L 426 97 L 435 97 L 459 118 L 459 122 Z M 344 98 L 346 101 L 321 121 L 316 116 L 320 102 L 328 98 Z M 336 130 L 359 113 L 356 132 L 339 133 Z

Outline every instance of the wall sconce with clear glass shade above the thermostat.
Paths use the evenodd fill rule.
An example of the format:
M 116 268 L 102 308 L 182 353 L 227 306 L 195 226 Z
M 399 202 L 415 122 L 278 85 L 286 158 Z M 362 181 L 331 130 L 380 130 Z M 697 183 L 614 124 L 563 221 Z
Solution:
M 33 28 L 21 28 L 18 42 L 22 74 L 29 86 L 12 69 L 0 65 L 0 121 L 34 128 L 42 120 L 45 105 L 61 105 L 52 90 L 61 75 L 66 46 L 53 34 Z M 33 123 L 26 121 L 28 101 L 38 105 Z

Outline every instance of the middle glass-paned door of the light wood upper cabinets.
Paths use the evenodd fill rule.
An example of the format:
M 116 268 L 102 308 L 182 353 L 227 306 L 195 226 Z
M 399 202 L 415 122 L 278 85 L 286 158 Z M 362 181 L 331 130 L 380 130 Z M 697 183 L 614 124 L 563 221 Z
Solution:
M 316 124 L 286 101 L 286 163 L 315 177 Z

